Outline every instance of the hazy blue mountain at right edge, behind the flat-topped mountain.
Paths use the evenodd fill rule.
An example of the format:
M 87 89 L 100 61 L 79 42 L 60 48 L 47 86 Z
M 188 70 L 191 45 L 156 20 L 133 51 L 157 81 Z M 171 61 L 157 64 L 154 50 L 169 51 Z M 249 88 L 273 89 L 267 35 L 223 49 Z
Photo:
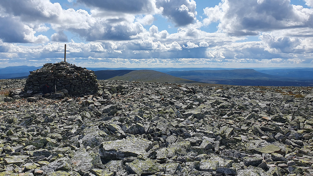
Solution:
M 301 68 L 301 69 L 272 69 L 272 70 L 259 70 L 261 73 L 269 75 L 298 78 L 300 80 L 313 80 L 313 68 Z

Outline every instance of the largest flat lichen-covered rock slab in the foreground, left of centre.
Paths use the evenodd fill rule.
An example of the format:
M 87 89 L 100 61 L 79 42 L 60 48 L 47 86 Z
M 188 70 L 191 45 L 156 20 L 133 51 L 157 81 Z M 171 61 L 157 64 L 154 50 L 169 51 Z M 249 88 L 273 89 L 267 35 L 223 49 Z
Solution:
M 128 138 L 115 141 L 106 141 L 100 144 L 99 153 L 101 158 L 121 159 L 146 155 L 147 149 L 152 142 L 138 138 Z

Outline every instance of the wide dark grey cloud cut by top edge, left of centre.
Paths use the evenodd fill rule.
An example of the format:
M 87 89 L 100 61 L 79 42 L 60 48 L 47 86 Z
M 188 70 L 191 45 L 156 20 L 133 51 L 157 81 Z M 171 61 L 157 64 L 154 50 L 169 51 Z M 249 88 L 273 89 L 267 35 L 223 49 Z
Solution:
M 77 0 L 77 2 L 111 12 L 132 14 L 151 14 L 156 12 L 154 0 Z

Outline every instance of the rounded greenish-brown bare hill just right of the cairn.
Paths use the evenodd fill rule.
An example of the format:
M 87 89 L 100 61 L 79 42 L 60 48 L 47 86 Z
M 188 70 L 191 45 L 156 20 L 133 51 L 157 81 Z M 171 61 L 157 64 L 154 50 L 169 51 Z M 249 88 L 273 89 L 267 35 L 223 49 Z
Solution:
M 99 73 L 99 72 L 98 72 Z M 97 74 L 96 74 L 97 75 Z M 101 77 L 101 75 L 99 76 Z M 97 75 L 98 78 L 98 75 Z M 127 80 L 127 81 L 144 81 L 144 82 L 161 82 L 161 83 L 199 83 L 198 81 L 187 80 L 171 76 L 154 70 L 133 70 L 125 75 L 115 76 L 109 80 Z

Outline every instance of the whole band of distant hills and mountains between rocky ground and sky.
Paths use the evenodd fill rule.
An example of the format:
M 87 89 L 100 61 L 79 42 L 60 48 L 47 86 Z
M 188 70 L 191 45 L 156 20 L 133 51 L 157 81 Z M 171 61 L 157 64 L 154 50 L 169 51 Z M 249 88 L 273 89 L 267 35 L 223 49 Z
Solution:
M 35 66 L 0 68 L 0 79 L 27 78 Z M 313 86 L 313 68 L 87 68 L 98 79 L 141 80 L 151 82 L 205 82 L 227 85 Z M 135 70 L 138 70 L 135 72 Z M 145 70 L 145 71 L 142 71 Z M 161 74 L 165 73 L 164 75 Z M 168 75 L 167 75 L 168 74 Z M 174 77 L 169 77 L 169 76 Z M 176 77 L 175 77 L 176 76 Z M 163 78 L 162 78 L 163 77 Z M 179 77 L 179 78 L 178 78 Z M 180 80 L 178 80 L 180 79 Z

